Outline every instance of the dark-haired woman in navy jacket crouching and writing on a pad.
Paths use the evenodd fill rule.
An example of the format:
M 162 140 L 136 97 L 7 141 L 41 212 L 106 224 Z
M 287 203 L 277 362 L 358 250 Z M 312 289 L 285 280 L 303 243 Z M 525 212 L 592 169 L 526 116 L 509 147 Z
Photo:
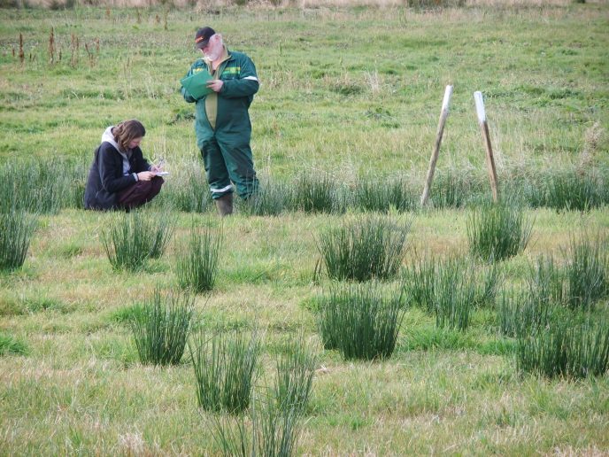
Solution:
M 161 166 L 150 166 L 140 143 L 146 129 L 139 120 L 106 128 L 95 151 L 85 189 L 85 209 L 130 210 L 155 198 L 163 185 Z

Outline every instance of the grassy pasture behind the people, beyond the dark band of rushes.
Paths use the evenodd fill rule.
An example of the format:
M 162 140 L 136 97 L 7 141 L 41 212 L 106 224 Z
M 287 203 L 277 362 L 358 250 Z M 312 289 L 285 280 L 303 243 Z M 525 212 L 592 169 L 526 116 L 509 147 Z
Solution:
M 179 80 L 197 58 L 193 36 L 204 24 L 257 65 L 252 147 L 258 168 L 274 175 L 303 167 L 345 178 L 424 174 L 447 84 L 454 96 L 440 169 L 483 167 L 474 90 L 485 97 L 500 169 L 573 162 L 587 129 L 608 122 L 606 4 L 431 12 L 144 8 L 140 22 L 135 9 L 112 7 L 2 15 L 2 159 L 90 159 L 104 128 L 130 118 L 148 128 L 143 150 L 150 157 L 197 157 L 193 105 L 182 100 Z M 56 61 L 61 50 L 53 65 L 51 28 Z M 75 65 L 72 35 L 79 40 Z M 600 146 L 606 157 L 606 141 Z

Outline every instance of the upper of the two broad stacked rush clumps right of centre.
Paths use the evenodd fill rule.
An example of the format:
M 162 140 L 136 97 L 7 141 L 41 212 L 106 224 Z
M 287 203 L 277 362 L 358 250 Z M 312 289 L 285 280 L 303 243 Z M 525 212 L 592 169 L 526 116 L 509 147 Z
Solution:
M 328 229 L 317 245 L 332 279 L 389 279 L 402 264 L 409 231 L 410 222 L 400 224 L 386 216 L 365 214 Z

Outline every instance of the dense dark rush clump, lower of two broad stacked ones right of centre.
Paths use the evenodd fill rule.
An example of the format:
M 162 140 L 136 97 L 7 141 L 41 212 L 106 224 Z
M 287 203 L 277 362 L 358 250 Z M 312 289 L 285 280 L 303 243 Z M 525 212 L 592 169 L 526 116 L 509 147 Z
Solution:
M 332 287 L 317 315 L 324 347 L 338 349 L 344 359 L 389 358 L 404 319 L 402 294 L 385 297 L 376 283 Z

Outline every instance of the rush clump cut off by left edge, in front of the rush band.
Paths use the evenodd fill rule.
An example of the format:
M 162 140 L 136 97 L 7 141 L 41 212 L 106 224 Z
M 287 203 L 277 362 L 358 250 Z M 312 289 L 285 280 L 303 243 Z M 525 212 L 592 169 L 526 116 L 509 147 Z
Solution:
M 24 211 L 0 213 L 0 271 L 23 266 L 37 224 L 36 216 Z

